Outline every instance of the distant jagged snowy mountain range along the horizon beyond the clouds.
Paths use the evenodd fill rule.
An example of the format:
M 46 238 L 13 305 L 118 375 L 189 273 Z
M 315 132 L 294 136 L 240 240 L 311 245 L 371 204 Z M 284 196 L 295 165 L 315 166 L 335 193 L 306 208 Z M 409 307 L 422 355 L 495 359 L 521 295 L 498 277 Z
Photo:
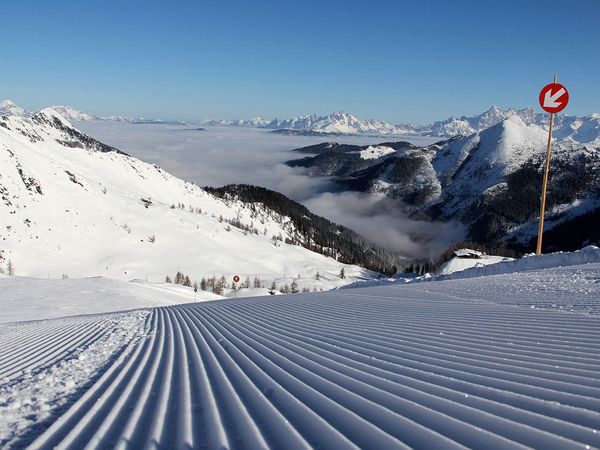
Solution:
M 66 120 L 88 121 L 88 120 L 113 120 L 128 123 L 147 124 L 181 124 L 189 122 L 180 120 L 162 120 L 131 118 L 126 116 L 99 117 L 81 112 L 70 106 L 53 106 L 55 111 Z M 0 115 L 30 115 L 27 111 L 15 105 L 10 100 L 0 102 Z M 474 116 L 450 117 L 445 120 L 433 122 L 426 125 L 398 124 L 394 125 L 377 119 L 358 119 L 347 112 L 339 111 L 324 116 L 316 114 L 303 115 L 290 119 L 266 120 L 260 117 L 251 119 L 216 119 L 198 122 L 203 126 L 225 126 L 244 128 L 264 128 L 274 130 L 281 134 L 302 135 L 421 135 L 438 136 L 449 138 L 453 136 L 468 136 L 483 131 L 503 120 L 511 117 L 519 117 L 526 125 L 538 125 L 548 127 L 548 114 L 536 112 L 532 107 L 524 109 L 509 108 L 500 109 L 493 105 L 487 111 Z M 558 114 L 555 117 L 554 136 L 558 139 L 567 139 L 573 142 L 590 145 L 600 145 L 600 114 L 589 116 L 569 116 Z

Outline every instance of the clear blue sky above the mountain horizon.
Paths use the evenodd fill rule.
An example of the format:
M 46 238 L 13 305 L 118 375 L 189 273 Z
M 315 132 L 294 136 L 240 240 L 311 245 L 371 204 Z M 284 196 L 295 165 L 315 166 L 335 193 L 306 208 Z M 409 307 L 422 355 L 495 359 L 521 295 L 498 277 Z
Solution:
M 3 2 L 0 98 L 201 119 L 345 110 L 393 123 L 600 112 L 600 1 Z

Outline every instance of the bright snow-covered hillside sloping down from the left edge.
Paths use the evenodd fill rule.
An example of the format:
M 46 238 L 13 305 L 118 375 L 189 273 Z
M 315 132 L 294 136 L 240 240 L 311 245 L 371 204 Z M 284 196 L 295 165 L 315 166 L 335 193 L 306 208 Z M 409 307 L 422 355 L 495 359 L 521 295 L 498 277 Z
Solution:
M 301 232 L 264 204 L 209 194 L 84 135 L 52 108 L 0 116 L 0 167 L 5 272 L 153 282 L 238 274 L 266 287 L 316 283 L 317 272 L 341 284 L 374 275 L 338 261 L 354 257 L 313 240 L 309 224 Z M 391 256 L 344 232 L 365 266 L 392 270 Z

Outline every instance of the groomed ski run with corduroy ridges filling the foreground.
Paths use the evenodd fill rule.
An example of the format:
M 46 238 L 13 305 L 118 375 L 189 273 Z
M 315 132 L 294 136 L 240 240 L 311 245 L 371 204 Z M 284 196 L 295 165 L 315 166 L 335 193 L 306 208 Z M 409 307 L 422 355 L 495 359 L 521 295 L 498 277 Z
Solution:
M 600 447 L 599 298 L 594 262 L 4 324 L 0 446 Z

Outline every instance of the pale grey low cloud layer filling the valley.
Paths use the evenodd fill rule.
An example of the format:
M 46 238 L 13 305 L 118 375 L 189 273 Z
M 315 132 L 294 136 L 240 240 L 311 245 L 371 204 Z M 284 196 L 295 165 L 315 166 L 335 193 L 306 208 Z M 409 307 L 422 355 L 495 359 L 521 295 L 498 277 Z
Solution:
M 419 222 L 406 217 L 389 199 L 354 192 L 336 193 L 327 179 L 310 178 L 283 163 L 303 155 L 291 150 L 324 140 L 359 145 L 385 138 L 366 136 L 282 136 L 267 130 L 81 122 L 95 138 L 199 186 L 247 183 L 273 189 L 305 204 L 311 211 L 345 225 L 373 243 L 408 258 L 435 257 L 460 240 L 458 224 Z M 414 138 L 416 144 L 432 142 Z

